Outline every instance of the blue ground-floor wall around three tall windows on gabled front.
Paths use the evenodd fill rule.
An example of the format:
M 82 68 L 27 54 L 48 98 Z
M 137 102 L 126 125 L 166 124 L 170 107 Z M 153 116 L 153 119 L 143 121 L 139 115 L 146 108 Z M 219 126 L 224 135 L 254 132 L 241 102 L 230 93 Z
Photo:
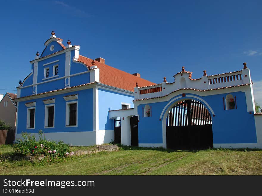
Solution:
M 63 96 L 78 94 L 78 127 L 66 127 L 66 102 Z M 54 128 L 44 128 L 45 104 L 43 100 L 55 99 Z M 36 102 L 35 106 L 35 128 L 26 129 L 27 107 L 25 103 Z M 45 133 L 71 132 L 71 131 L 93 131 L 93 89 L 86 89 L 45 98 L 32 99 L 19 102 L 17 133 L 38 133 L 42 129 Z

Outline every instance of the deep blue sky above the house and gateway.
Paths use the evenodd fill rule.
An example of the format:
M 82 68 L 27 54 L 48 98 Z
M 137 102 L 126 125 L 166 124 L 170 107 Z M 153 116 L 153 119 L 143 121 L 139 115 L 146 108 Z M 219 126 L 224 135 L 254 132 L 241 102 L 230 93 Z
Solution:
M 160 83 L 192 71 L 199 78 L 251 71 L 262 106 L 262 1 L 3 1 L 0 94 L 14 92 L 30 60 L 56 36 L 80 54 Z

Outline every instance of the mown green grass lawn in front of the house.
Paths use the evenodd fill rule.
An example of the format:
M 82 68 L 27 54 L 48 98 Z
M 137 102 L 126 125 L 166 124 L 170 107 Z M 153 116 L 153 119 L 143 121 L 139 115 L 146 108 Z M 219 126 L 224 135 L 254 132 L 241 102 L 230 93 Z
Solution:
M 12 154 L 11 146 L 0 146 L 0 154 L 8 153 Z M 45 166 L 1 161 L 0 175 L 262 175 L 262 150 L 124 147 Z

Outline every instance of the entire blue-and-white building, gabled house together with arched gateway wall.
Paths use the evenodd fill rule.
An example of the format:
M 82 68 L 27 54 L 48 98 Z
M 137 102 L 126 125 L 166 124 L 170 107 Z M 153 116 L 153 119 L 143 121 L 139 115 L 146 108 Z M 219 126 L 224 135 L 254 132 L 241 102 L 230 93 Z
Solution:
M 159 84 L 92 60 L 52 32 L 17 87 L 16 138 L 38 133 L 70 145 L 262 148 L 250 70 L 192 78 L 184 67 Z

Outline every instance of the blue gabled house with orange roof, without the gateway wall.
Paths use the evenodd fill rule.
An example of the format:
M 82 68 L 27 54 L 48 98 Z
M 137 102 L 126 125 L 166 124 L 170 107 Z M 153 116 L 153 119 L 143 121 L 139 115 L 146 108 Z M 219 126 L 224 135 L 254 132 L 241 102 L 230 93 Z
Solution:
M 62 42 L 52 32 L 17 87 L 16 139 L 42 130 L 46 138 L 70 145 L 113 141 L 109 110 L 133 107 L 136 83 L 154 83 L 106 65 L 103 58 L 80 55 L 80 46 L 70 40 L 66 46 Z

